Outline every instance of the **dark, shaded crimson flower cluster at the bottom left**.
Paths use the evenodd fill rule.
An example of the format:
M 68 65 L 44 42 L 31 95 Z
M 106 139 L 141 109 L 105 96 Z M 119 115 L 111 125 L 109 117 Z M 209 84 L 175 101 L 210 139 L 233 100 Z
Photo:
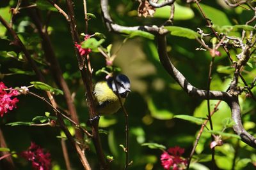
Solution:
M 31 161 L 33 169 L 49 170 L 51 167 L 51 154 L 44 153 L 43 149 L 33 142 L 31 142 L 28 150 L 20 153 L 20 156 Z

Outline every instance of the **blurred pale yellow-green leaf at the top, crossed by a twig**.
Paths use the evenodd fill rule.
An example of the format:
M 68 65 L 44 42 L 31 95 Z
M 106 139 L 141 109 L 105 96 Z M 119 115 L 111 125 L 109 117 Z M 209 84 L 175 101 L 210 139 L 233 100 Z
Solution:
M 186 6 L 180 6 L 177 3 L 175 5 L 175 15 L 174 20 L 189 20 L 195 16 L 193 10 Z M 156 13 L 154 13 L 154 18 L 170 18 L 171 9 L 170 6 L 164 6 L 162 8 L 157 8 Z

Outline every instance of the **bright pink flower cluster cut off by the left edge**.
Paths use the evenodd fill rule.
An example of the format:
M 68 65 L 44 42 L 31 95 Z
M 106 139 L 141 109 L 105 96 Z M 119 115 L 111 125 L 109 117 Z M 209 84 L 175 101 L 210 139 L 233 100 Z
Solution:
M 4 85 L 3 82 L 0 82 L 0 116 L 3 117 L 4 113 L 7 113 L 9 110 L 16 108 L 16 103 L 19 102 L 19 99 L 13 96 L 18 96 L 19 92 L 9 88 Z

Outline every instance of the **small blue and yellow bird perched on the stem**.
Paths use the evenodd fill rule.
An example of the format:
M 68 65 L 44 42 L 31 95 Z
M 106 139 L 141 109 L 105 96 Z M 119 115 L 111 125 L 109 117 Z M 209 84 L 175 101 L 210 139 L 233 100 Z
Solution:
M 107 81 L 99 81 L 95 84 L 93 94 L 97 103 L 96 109 L 99 115 L 110 115 L 116 113 L 125 102 L 125 98 L 128 96 L 131 84 L 130 80 L 124 74 L 118 74 L 117 76 L 108 78 Z

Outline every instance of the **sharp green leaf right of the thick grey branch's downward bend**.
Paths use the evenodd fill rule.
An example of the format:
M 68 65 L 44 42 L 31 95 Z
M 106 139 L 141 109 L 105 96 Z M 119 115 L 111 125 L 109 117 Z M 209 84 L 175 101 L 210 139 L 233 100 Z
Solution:
M 177 27 L 177 26 L 166 26 L 164 28 L 170 31 L 171 35 L 173 36 L 179 36 L 179 37 L 184 37 L 189 39 L 195 39 L 200 37 L 200 34 L 193 31 L 192 29 Z

